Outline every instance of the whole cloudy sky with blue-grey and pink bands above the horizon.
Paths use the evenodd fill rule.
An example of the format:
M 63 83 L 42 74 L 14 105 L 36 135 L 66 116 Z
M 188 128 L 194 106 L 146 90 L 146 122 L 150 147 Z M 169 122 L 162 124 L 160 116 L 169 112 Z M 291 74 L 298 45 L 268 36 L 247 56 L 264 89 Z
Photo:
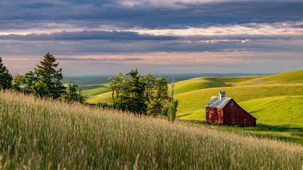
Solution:
M 47 52 L 65 76 L 303 69 L 303 1 L 1 0 L 11 74 Z

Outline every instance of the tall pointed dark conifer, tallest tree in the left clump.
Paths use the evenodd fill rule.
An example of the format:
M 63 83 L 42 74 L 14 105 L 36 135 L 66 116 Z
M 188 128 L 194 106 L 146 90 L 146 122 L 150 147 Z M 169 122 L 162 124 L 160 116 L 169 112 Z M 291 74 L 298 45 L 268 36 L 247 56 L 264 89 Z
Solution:
M 65 86 L 62 85 L 62 69 L 56 70 L 59 63 L 56 62 L 55 56 L 51 55 L 50 52 L 46 53 L 41 65 L 37 65 L 37 72 L 40 74 L 40 81 L 46 84 L 50 96 L 53 98 L 59 98 L 60 94 L 65 91 Z

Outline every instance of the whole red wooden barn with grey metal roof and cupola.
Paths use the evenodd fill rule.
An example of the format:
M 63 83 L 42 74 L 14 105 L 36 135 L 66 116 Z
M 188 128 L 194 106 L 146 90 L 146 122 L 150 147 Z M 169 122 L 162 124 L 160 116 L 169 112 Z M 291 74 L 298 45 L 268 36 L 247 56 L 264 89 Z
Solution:
M 221 125 L 255 126 L 256 118 L 238 106 L 233 98 L 226 98 L 225 91 L 219 92 L 220 97 L 211 97 L 206 104 L 206 121 Z

